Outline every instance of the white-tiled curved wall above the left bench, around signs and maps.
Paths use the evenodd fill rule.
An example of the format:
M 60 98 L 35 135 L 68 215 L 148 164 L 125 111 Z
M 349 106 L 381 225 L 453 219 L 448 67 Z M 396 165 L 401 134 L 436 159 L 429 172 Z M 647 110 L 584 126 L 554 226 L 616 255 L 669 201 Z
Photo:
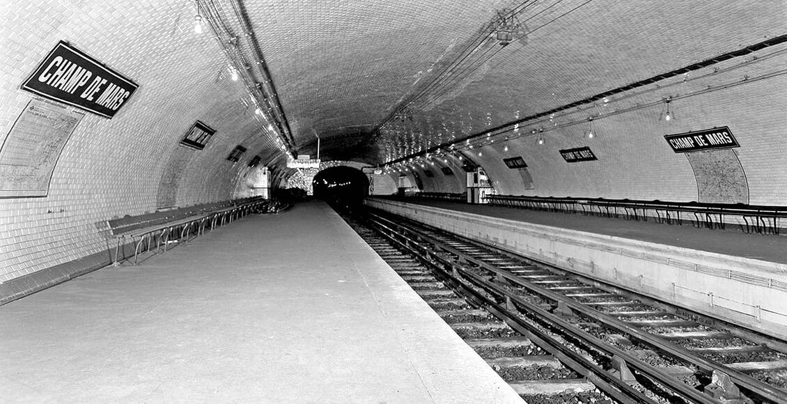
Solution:
M 232 163 L 224 159 L 229 150 L 238 144 L 260 150 L 272 142 L 254 135 L 258 128 L 238 108 L 246 89 L 226 74 L 220 77 L 226 57 L 211 36 L 194 35 L 194 9 L 184 4 L 33 1 L 4 9 L 0 143 L 35 98 L 20 84 L 58 41 L 109 65 L 139 89 L 111 120 L 86 113 L 65 144 L 46 197 L 0 199 L 0 282 L 106 250 L 102 222 L 153 212 L 157 195 L 176 206 L 231 198 L 236 173 L 252 155 Z M 204 150 L 190 150 L 191 158 L 176 158 L 176 192 L 160 192 L 162 173 L 195 120 L 216 135 Z

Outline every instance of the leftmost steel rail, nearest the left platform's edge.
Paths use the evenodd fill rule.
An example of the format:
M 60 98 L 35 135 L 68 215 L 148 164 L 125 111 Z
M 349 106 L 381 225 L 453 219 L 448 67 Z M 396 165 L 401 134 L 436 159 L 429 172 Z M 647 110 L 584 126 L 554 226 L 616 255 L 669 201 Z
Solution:
M 563 343 L 556 341 L 552 338 L 552 336 L 541 331 L 541 329 L 535 327 L 533 324 L 528 324 L 527 321 L 524 321 L 518 316 L 519 313 L 515 313 L 515 309 L 512 311 L 510 309 L 501 307 L 499 303 L 494 302 L 490 298 L 486 298 L 486 296 L 467 285 L 460 276 L 453 276 L 450 272 L 445 271 L 445 269 L 441 268 L 440 265 L 437 265 L 433 261 L 441 261 L 443 265 L 456 269 L 456 264 L 449 261 L 449 259 L 435 256 L 434 254 L 428 254 L 428 251 L 424 251 L 427 252 L 427 255 L 424 256 L 423 252 L 416 250 L 416 248 L 412 246 L 412 244 L 420 246 L 416 240 L 409 239 L 406 235 L 396 232 L 384 224 L 377 223 L 377 225 L 387 229 L 389 232 L 392 232 L 393 235 L 390 235 L 382 230 L 379 230 L 387 239 L 390 239 L 393 243 L 398 244 L 405 250 L 410 251 L 412 254 L 416 255 L 417 258 L 419 258 L 419 261 L 429 265 L 433 269 L 433 273 L 438 277 L 438 279 L 448 281 L 449 284 L 452 284 L 455 287 L 455 289 L 459 288 L 461 290 L 460 295 L 470 298 L 470 300 L 475 303 L 476 306 L 487 309 L 490 311 L 490 313 L 493 313 L 493 315 L 503 320 L 516 332 L 525 335 L 533 343 L 538 345 L 538 347 L 541 347 L 541 349 L 546 350 L 555 356 L 555 358 L 563 363 L 563 365 L 566 365 L 574 372 L 585 376 L 591 383 L 596 385 L 597 388 L 599 388 L 601 391 L 604 391 L 604 394 L 624 403 L 655 403 L 655 401 L 653 401 L 651 398 L 648 398 L 648 396 L 643 394 L 641 391 L 637 391 L 634 389 L 634 387 L 631 387 L 629 384 L 626 384 L 623 380 L 615 377 L 610 372 L 600 368 L 599 365 L 596 365 L 592 361 L 589 361 L 589 359 L 584 358 L 581 354 L 578 354 L 574 350 L 568 349 Z M 398 240 L 394 235 L 405 239 L 405 241 L 402 242 L 401 240 Z M 423 246 L 420 247 L 423 248 Z M 709 401 L 708 403 L 720 404 L 720 402 L 717 401 Z

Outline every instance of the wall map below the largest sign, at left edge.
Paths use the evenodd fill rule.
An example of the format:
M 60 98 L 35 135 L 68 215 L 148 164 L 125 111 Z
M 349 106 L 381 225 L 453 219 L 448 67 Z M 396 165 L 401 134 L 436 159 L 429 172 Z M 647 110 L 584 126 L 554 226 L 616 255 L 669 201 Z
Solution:
M 32 99 L 0 147 L 0 198 L 46 196 L 65 143 L 85 114 Z

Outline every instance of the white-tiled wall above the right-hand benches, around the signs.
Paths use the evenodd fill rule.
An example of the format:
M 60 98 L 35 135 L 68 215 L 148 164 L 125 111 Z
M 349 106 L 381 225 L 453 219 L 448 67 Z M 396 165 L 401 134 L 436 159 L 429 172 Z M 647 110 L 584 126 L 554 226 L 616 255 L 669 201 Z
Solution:
M 730 77 L 733 79 L 738 80 Z M 787 85 L 783 79 L 774 81 L 778 80 L 781 83 L 777 85 Z M 584 134 L 586 124 L 577 124 L 544 132 L 543 145 L 537 143 L 538 134 L 527 134 L 477 147 L 471 150 L 471 158 L 486 169 L 493 187 L 504 195 L 690 202 L 697 201 L 701 191 L 704 199 L 784 205 L 787 171 L 781 168 L 787 166 L 787 154 L 783 153 L 781 137 L 782 128 L 787 128 L 787 114 L 782 113 L 787 109 L 787 98 L 768 91 L 773 85 L 765 80 L 674 101 L 671 109 L 676 111 L 676 118 L 670 122 L 660 120 L 663 106 L 652 106 L 594 120 L 593 139 Z M 634 98 L 630 102 L 636 105 L 637 100 L 648 99 Z M 614 108 L 609 105 L 600 110 Z M 728 126 L 741 145 L 726 152 L 736 154 L 740 161 L 734 172 L 734 189 L 732 173 L 719 169 L 702 172 L 703 182 L 698 184 L 687 156 L 674 153 L 663 138 L 718 126 Z M 506 145 L 508 151 L 503 151 Z M 558 152 L 578 146 L 589 146 L 598 160 L 567 163 Z M 516 170 L 504 165 L 503 158 L 513 156 L 527 162 L 534 185 L 531 189 L 517 178 Z M 729 184 L 709 190 L 715 183 Z M 442 191 L 439 184 L 425 185 L 425 191 Z

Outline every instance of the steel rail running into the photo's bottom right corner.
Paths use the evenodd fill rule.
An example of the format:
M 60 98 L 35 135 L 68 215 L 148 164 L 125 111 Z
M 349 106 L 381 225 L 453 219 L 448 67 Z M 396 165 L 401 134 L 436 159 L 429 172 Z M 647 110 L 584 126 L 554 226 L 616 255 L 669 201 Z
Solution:
M 440 250 L 444 250 L 449 254 L 456 255 L 464 259 L 464 261 L 469 261 L 474 265 L 478 265 L 482 269 L 486 269 L 487 271 L 493 272 L 495 274 L 499 274 L 503 276 L 507 280 L 511 280 L 513 283 L 525 287 L 530 291 L 537 293 L 538 295 L 544 296 L 545 298 L 549 298 L 556 302 L 563 302 L 566 306 L 570 309 L 578 311 L 586 317 L 593 318 L 596 321 L 600 321 L 605 325 L 608 325 L 610 328 L 614 328 L 619 332 L 624 332 L 629 335 L 633 335 L 635 338 L 641 340 L 644 343 L 648 343 L 649 345 L 656 347 L 660 350 L 663 350 L 667 354 L 671 354 L 675 358 L 679 358 L 682 361 L 695 365 L 696 367 L 700 368 L 704 372 L 711 373 L 714 370 L 719 372 L 724 372 L 733 380 L 735 384 L 739 387 L 743 387 L 748 391 L 752 391 L 755 395 L 759 395 L 761 398 L 766 398 L 772 402 L 778 402 L 782 404 L 787 404 L 787 393 L 785 391 L 781 391 L 777 387 L 770 386 L 769 384 L 765 384 L 759 380 L 756 380 L 752 376 L 748 376 L 743 372 L 739 372 L 735 369 L 731 369 L 727 366 L 722 365 L 717 361 L 711 361 L 710 359 L 701 358 L 693 354 L 690 350 L 684 347 L 678 347 L 674 343 L 670 343 L 656 335 L 652 335 L 648 332 L 644 332 L 639 328 L 631 326 L 629 324 L 623 323 L 623 321 L 619 321 L 615 317 L 611 317 L 608 314 L 600 313 L 596 309 L 592 309 L 582 303 L 575 302 L 575 300 L 571 298 L 567 298 L 566 296 L 560 295 L 554 291 L 549 291 L 544 287 L 539 287 L 534 284 L 531 284 L 527 280 L 523 280 L 521 277 L 515 275 L 512 272 L 509 272 L 505 269 L 499 269 L 494 265 L 490 265 L 489 263 L 482 261 L 478 258 L 473 258 L 471 255 L 462 252 L 452 246 L 446 246 L 444 243 L 431 238 L 430 236 L 420 234 L 410 228 L 406 228 L 402 224 L 393 223 L 393 221 L 387 220 L 386 218 L 380 217 L 374 213 L 370 213 L 374 217 L 378 217 L 383 221 L 387 221 L 391 224 L 396 225 L 399 228 L 404 229 L 405 231 L 412 232 L 419 236 L 419 238 L 423 239 L 427 243 L 432 244 L 433 246 L 437 247 Z M 673 378 L 673 380 L 675 380 Z M 685 386 L 685 384 L 684 384 Z

